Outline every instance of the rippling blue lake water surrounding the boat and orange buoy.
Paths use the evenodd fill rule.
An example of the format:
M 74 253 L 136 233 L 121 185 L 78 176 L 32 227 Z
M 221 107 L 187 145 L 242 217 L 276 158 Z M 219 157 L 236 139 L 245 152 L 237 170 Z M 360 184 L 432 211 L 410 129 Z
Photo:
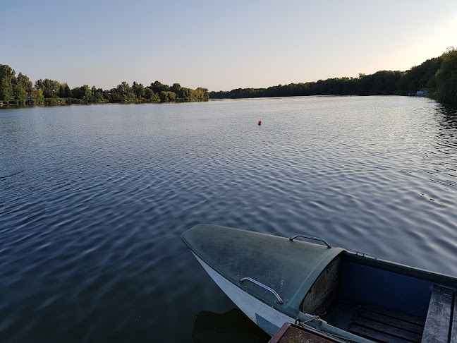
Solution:
M 257 121 L 262 126 L 257 126 Z M 192 342 L 197 223 L 457 275 L 457 114 L 410 97 L 0 110 L 0 341 Z

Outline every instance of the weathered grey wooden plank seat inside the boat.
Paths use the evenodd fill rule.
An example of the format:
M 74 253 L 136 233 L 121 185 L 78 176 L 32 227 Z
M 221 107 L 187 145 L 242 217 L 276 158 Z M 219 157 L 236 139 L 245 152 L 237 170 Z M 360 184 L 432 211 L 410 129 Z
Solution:
M 434 284 L 421 343 L 457 343 L 455 289 Z

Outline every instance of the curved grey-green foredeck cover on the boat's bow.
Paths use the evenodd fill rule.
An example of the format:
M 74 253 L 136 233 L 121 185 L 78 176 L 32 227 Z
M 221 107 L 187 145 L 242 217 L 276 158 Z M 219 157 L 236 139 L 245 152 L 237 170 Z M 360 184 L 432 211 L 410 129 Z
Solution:
M 182 239 L 219 275 L 292 318 L 322 270 L 344 250 L 208 224 L 185 231 Z

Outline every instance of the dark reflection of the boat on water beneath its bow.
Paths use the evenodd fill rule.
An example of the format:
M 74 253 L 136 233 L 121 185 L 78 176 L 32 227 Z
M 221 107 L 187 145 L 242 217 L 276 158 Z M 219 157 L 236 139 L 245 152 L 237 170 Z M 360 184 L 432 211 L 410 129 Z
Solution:
M 233 308 L 226 313 L 197 313 L 192 338 L 195 343 L 265 343 L 271 337 L 252 323 L 239 308 Z

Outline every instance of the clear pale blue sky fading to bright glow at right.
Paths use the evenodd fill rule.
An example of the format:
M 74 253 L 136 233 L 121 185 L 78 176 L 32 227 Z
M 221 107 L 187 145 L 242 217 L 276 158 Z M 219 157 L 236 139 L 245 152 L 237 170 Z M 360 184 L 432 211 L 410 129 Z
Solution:
M 457 1 L 0 0 L 0 64 L 34 83 L 267 88 L 406 71 L 457 47 Z

